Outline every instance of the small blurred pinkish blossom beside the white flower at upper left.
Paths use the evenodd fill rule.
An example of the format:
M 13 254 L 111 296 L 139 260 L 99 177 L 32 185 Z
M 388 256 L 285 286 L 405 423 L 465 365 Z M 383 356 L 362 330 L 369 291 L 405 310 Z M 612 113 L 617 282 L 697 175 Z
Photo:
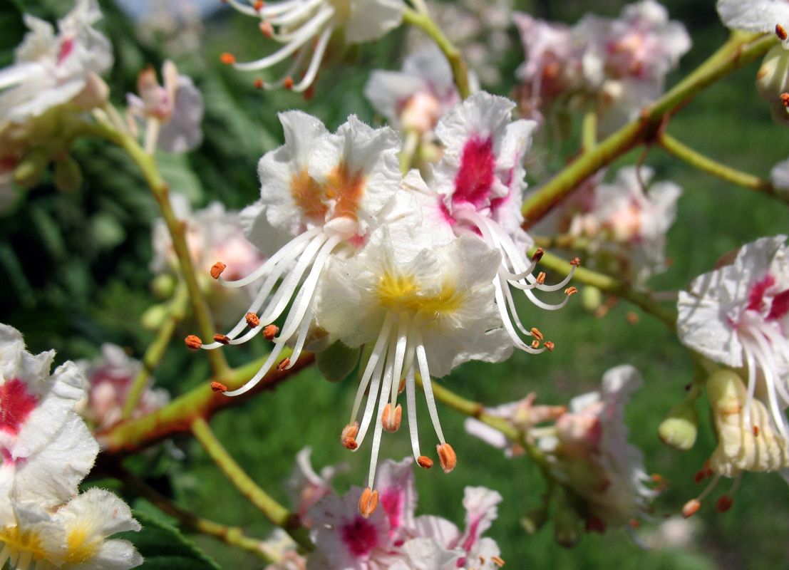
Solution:
M 192 78 L 178 74 L 169 59 L 162 66 L 164 86 L 156 80 L 150 65 L 137 77 L 137 93 L 126 95 L 130 125 L 136 130 L 132 117 L 145 124 L 145 149 L 152 152 L 156 143 L 165 152 L 192 151 L 203 141 L 200 122 L 203 121 L 203 95 Z

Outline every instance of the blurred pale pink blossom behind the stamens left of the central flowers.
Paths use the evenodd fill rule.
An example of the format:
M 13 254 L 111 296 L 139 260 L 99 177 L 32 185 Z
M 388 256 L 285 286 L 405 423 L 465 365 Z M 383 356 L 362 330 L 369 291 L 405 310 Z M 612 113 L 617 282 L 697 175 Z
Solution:
M 227 265 L 226 278 L 239 279 L 259 267 L 264 255 L 244 237 L 238 213 L 226 210 L 222 203 L 211 202 L 208 207 L 193 210 L 186 196 L 174 192 L 170 194 L 170 204 L 176 218 L 184 223 L 186 245 L 200 285 L 208 293 L 212 313 L 221 323 L 235 322 L 237 312 L 247 307 L 256 289 L 254 286 L 242 290 L 222 287 L 211 279 L 211 267 L 222 259 Z M 178 274 L 178 256 L 170 231 L 161 218 L 153 223 L 152 243 L 151 271 Z

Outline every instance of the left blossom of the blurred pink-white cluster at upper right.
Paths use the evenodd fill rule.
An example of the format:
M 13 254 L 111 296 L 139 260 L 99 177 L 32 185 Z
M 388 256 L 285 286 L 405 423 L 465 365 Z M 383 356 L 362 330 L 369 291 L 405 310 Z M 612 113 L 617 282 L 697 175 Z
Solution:
M 525 61 L 515 71 L 523 82 L 518 99 L 525 117 L 541 122 L 545 107 L 581 88 L 584 46 L 566 24 L 518 12 L 513 20 L 525 52 Z

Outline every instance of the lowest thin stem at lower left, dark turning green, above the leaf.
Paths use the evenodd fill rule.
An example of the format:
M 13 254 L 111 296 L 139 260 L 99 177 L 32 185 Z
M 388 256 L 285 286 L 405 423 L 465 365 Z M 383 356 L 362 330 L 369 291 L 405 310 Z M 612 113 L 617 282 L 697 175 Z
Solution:
M 271 546 L 268 546 L 262 540 L 246 536 L 240 527 L 227 527 L 224 524 L 215 523 L 213 520 L 204 519 L 196 516 L 193 512 L 187 511 L 181 505 L 170 501 L 170 499 L 153 489 L 148 483 L 124 468 L 121 464 L 113 465 L 109 471 L 133 494 L 143 497 L 166 515 L 178 519 L 178 522 L 183 527 L 192 531 L 202 532 L 204 535 L 215 536 L 230 546 L 248 550 L 270 564 L 279 562 L 281 559 L 282 556 L 272 549 Z

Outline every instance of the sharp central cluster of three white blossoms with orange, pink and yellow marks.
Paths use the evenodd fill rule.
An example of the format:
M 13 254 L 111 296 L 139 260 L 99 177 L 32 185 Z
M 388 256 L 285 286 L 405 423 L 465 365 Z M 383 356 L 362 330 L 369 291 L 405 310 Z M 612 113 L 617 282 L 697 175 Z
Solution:
M 294 345 L 293 352 L 279 361 L 279 370 L 292 367 L 305 348 L 336 342 L 365 347 L 357 397 L 341 438 L 347 449 L 357 449 L 372 429 L 366 493 L 373 498 L 361 502 L 365 515 L 377 501 L 382 431 L 401 425 L 398 394 L 406 390 L 414 459 L 429 468 L 433 460 L 421 453 L 417 433 L 421 379 L 439 461 L 450 472 L 457 459 L 441 430 L 431 378 L 468 360 L 505 360 L 513 347 L 552 350 L 539 330 L 522 325 L 510 289 L 548 309 L 563 307 L 576 292 L 565 289 L 571 271 L 561 283 L 546 285 L 544 274 L 533 275 L 540 255 L 526 256 L 532 241 L 520 227 L 522 162 L 534 123 L 512 121 L 513 107 L 481 92 L 441 118 L 436 137 L 443 156 L 428 181 L 416 170 L 402 176 L 400 140 L 390 128 L 371 129 L 352 116 L 330 133 L 315 117 L 281 114 L 286 144 L 260 159 L 261 199 L 241 212 L 247 237 L 261 249 L 271 248 L 271 257 L 236 281 L 220 277 L 226 263 L 212 268 L 224 285 L 258 279 L 264 284 L 230 332 L 215 335 L 210 344 L 189 337 L 188 344 L 219 348 L 261 332 L 274 342 L 264 367 L 228 395 L 255 386 L 286 343 Z M 285 236 L 290 241 L 273 251 Z M 559 289 L 566 294 L 560 304 L 535 295 Z M 281 329 L 275 325 L 280 317 Z

